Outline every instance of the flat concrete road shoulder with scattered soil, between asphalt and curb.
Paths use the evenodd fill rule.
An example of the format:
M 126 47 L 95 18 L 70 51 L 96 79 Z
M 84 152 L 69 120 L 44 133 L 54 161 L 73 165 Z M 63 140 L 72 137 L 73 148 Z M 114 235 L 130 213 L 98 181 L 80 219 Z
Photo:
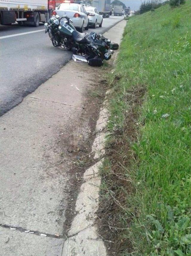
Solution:
M 124 21 L 121 23 L 124 25 Z M 121 23 L 105 36 L 116 41 Z M 1 117 L 4 210 L 0 214 L 0 234 L 7 237 L 1 246 L 5 254 L 22 255 L 27 248 L 30 255 L 60 255 L 64 240 L 67 250 L 71 249 L 68 255 L 72 255 L 73 247 L 77 248 L 76 243 L 70 246 L 73 239 L 69 238 L 76 233 L 71 231 L 69 235 L 67 228 L 76 215 L 80 187 L 85 186 L 84 171 L 93 161 L 96 163 L 92 144 L 106 90 L 102 74 L 110 68 L 111 64 L 108 65 L 99 69 L 70 61 Z M 94 221 L 90 227 L 103 252 L 104 244 L 100 247 Z M 88 234 L 86 228 L 80 229 L 79 236 Z M 41 242 L 37 243 L 37 239 Z M 39 243 L 42 251 L 38 249 Z M 55 246 L 56 253 L 52 253 Z M 96 253 L 97 247 L 91 250 Z

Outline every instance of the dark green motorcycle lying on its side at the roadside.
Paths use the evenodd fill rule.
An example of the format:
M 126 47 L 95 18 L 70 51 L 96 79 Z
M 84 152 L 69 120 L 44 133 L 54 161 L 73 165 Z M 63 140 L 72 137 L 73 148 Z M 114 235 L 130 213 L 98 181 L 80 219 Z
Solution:
M 101 66 L 103 60 L 109 60 L 113 50 L 118 49 L 118 44 L 95 32 L 80 33 L 72 25 L 73 21 L 67 17 L 56 15 L 44 24 L 45 33 L 48 32 L 53 46 L 61 47 L 73 54 L 86 57 L 90 66 Z

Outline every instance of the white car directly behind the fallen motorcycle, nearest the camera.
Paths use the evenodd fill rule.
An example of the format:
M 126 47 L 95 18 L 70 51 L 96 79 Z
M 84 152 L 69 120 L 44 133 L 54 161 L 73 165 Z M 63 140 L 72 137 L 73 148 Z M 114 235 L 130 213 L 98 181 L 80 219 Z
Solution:
M 89 18 L 87 12 L 81 4 L 74 4 L 67 1 L 58 6 L 52 13 L 53 16 L 59 15 L 60 17 L 68 16 L 73 21 L 73 26 L 77 28 L 81 33 L 84 29 L 89 28 Z

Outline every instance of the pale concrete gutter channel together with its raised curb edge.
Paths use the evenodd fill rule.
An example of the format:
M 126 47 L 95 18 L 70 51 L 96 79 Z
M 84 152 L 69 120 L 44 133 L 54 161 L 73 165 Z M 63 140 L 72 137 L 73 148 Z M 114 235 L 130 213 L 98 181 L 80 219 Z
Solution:
M 119 22 L 104 36 L 120 43 L 125 25 L 124 20 Z M 67 171 L 63 174 L 63 169 L 68 170 L 73 159 L 68 160 L 68 156 L 64 155 L 66 162 L 61 161 L 60 152 L 64 147 L 60 144 L 70 139 L 71 132 L 78 137 L 83 133 L 82 130 L 88 130 L 88 124 L 84 121 L 79 131 L 79 116 L 83 110 L 85 92 L 87 88 L 91 89 L 91 79 L 98 72 L 98 68 L 71 60 L 23 102 L 1 117 L 1 255 L 107 255 L 104 241 L 95 225 L 101 184 L 98 170 L 104 157 L 109 117 L 107 96 L 96 123 L 96 138 L 92 145 L 94 163 L 84 172 L 84 182 L 76 200 L 77 214 L 68 234 L 63 235 L 66 232 L 62 230 L 67 195 L 61 190 L 67 192 L 70 186 L 69 174 Z M 66 86 L 63 88 L 61 84 Z M 16 141 L 13 141 L 15 135 Z M 87 131 L 82 135 L 87 136 Z M 14 172 L 9 174 L 11 169 Z M 31 177 L 31 172 L 35 178 Z M 27 195 L 26 198 L 24 195 Z M 8 211 L 4 211 L 7 205 Z M 26 233 L 27 228 L 32 233 Z

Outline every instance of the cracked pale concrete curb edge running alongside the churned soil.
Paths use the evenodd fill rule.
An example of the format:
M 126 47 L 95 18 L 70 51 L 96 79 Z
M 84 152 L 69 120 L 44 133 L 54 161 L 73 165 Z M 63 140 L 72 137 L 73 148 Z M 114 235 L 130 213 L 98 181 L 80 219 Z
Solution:
M 121 21 L 121 23 L 123 24 L 118 43 L 120 43 L 123 30 L 126 25 L 125 21 Z M 117 54 L 114 56 L 113 66 L 116 57 Z M 95 220 L 97 218 L 96 211 L 98 210 L 99 205 L 99 190 L 101 185 L 101 177 L 98 173 L 104 160 L 105 141 L 108 135 L 108 94 L 110 94 L 110 91 L 106 92 L 104 103 L 101 107 L 96 123 L 96 138 L 92 145 L 91 153 L 94 154 L 94 160 L 96 163 L 94 163 L 93 166 L 84 172 L 84 182 L 80 187 L 80 192 L 78 194 L 75 206 L 77 215 L 72 221 L 71 228 L 68 232 L 68 239 L 64 242 L 62 256 L 107 256 L 107 250 L 104 245 L 104 241 L 102 240 L 101 235 L 97 233 Z

